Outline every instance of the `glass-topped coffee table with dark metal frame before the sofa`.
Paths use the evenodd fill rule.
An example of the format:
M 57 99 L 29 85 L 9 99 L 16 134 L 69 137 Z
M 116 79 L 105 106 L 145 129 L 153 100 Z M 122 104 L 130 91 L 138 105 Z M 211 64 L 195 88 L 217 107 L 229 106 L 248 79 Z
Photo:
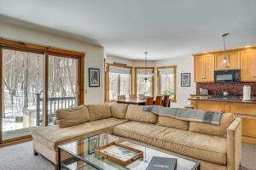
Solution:
M 116 141 L 117 136 L 102 133 L 85 139 L 79 139 L 67 144 L 62 144 L 58 148 L 58 169 L 67 170 L 146 170 L 153 156 L 177 158 L 177 170 L 200 170 L 200 163 L 183 157 L 173 156 L 166 152 L 155 150 L 143 144 L 123 139 L 121 144 L 125 144 L 137 150 L 143 151 L 143 159 L 132 162 L 126 167 L 96 156 L 95 149 Z

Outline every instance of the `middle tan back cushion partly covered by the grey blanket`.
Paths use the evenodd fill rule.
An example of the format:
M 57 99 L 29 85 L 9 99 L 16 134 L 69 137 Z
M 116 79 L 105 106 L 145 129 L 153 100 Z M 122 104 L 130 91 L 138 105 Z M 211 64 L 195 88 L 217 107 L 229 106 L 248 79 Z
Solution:
M 157 125 L 189 130 L 189 121 L 179 120 L 171 116 L 158 116 Z

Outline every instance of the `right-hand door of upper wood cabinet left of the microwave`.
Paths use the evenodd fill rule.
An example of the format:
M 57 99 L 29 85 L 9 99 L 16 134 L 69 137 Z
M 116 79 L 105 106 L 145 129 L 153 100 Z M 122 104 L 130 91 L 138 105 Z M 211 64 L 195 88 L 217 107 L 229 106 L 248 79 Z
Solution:
M 203 77 L 204 82 L 214 82 L 214 55 L 207 54 L 205 57 L 204 70 L 205 75 Z

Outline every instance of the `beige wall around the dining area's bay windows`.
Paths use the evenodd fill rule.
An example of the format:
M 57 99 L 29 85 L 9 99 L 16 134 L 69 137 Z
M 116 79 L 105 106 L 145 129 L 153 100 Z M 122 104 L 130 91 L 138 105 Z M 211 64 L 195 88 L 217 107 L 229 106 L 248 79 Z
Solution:
M 129 59 L 121 59 L 119 57 L 107 56 L 107 62 L 113 63 L 120 62 L 130 66 L 144 66 L 144 61 L 132 61 Z M 189 94 L 195 94 L 195 82 L 194 82 L 194 66 L 193 66 L 193 57 L 192 56 L 183 56 L 172 59 L 162 59 L 157 61 L 148 61 L 148 66 L 154 66 L 154 94 L 157 94 L 157 75 L 156 67 L 166 66 L 166 65 L 177 65 L 177 102 L 172 103 L 172 107 L 184 107 L 189 105 Z M 134 72 L 134 71 L 133 71 Z M 191 74 L 191 86 L 190 87 L 181 87 L 181 73 L 190 73 Z M 135 77 L 133 74 L 133 85 L 135 87 Z

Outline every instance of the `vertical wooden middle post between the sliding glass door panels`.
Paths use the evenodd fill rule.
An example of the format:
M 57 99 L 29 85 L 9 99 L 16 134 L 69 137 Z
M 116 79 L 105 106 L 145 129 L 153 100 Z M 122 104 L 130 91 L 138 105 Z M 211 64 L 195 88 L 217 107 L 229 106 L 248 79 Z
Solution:
M 44 126 L 48 126 L 48 79 L 49 79 L 49 55 L 44 54 Z

